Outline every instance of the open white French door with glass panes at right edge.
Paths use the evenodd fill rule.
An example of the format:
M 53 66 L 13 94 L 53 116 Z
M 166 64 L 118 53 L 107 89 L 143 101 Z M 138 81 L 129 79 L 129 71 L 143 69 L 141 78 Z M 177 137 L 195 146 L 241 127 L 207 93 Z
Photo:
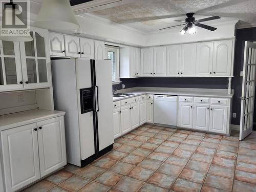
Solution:
M 255 97 L 256 44 L 245 41 L 240 140 L 252 132 Z

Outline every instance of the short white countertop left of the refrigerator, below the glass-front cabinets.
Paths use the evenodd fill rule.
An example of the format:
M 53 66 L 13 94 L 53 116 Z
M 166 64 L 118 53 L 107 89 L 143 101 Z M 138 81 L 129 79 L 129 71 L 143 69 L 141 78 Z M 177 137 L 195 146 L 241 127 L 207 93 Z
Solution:
M 0 116 L 0 131 L 46 119 L 65 115 L 66 112 L 49 110 L 28 110 Z

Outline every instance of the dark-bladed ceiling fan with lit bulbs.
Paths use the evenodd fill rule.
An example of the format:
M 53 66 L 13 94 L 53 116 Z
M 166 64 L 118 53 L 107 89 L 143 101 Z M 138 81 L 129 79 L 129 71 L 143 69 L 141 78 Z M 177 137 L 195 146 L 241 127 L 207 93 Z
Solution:
M 194 14 L 195 13 L 187 13 L 186 14 L 187 18 L 185 19 L 185 21 L 183 21 L 183 20 L 175 20 L 175 22 L 182 22 L 184 24 L 175 25 L 175 26 L 171 26 L 171 27 L 165 27 L 165 28 L 162 28 L 160 30 L 186 25 L 185 27 L 183 27 L 183 29 L 180 31 L 180 33 L 182 35 L 184 35 L 186 33 L 186 31 L 188 30 L 189 35 L 191 35 L 191 34 L 194 34 L 194 33 L 197 32 L 197 30 L 196 30 L 196 28 L 194 26 L 201 27 L 201 28 L 204 28 L 204 29 L 207 29 L 207 30 L 210 30 L 210 31 L 215 31 L 217 29 L 215 27 L 211 27 L 211 26 L 208 26 L 208 25 L 200 24 L 200 23 L 201 22 L 206 22 L 207 20 L 219 19 L 221 17 L 219 17 L 219 16 L 212 16 L 212 17 L 207 17 L 207 18 L 202 18 L 202 19 L 195 20 L 195 17 L 193 17 Z

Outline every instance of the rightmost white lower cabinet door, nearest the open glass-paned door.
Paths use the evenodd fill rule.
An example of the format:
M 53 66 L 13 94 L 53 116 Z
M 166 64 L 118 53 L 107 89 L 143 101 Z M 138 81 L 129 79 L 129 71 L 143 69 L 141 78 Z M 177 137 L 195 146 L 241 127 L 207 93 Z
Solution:
M 228 134 L 228 106 L 210 105 L 210 132 Z

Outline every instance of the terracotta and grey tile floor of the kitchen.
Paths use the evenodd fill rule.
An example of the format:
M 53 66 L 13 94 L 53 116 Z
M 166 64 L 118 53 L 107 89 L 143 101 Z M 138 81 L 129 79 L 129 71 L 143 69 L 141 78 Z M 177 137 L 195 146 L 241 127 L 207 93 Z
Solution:
M 24 191 L 256 191 L 256 132 L 231 137 L 143 125 L 80 168 L 67 165 Z

